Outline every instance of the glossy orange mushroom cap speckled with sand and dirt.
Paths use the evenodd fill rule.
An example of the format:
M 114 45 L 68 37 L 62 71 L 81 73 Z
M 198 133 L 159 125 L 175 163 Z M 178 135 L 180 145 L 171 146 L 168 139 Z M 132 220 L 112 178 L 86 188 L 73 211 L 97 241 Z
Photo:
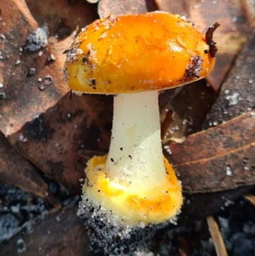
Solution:
M 161 11 L 96 20 L 66 52 L 66 79 L 80 93 L 168 89 L 205 77 L 215 63 L 191 22 Z

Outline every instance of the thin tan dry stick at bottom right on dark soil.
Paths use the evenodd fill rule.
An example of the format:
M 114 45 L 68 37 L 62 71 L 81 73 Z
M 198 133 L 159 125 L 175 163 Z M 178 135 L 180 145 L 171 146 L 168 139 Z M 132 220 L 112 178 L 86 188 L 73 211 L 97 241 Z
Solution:
M 214 247 L 217 256 L 228 256 L 228 252 L 224 245 L 221 232 L 219 231 L 219 226 L 217 225 L 217 222 L 215 222 L 214 217 L 208 216 L 207 223 L 210 230 L 210 234 L 212 236 L 212 241 L 214 242 Z

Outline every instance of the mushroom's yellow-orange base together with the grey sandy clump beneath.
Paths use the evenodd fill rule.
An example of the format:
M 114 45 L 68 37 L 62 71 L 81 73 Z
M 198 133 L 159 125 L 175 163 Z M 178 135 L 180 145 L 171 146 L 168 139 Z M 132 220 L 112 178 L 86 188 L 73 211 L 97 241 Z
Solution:
M 176 223 L 182 206 L 180 182 L 166 159 L 161 186 L 131 186 L 107 176 L 105 156 L 94 156 L 85 170 L 78 215 L 86 218 L 93 252 L 133 255 L 144 248 L 156 230 Z

